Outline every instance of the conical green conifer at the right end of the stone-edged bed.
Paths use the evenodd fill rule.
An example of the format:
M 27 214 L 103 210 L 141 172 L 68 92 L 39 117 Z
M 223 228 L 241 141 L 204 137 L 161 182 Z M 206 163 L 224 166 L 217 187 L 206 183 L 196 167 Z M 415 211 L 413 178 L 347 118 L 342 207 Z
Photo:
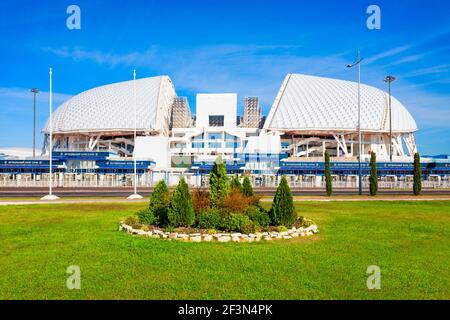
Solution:
M 270 220 L 274 225 L 291 227 L 295 223 L 295 219 L 296 214 L 291 189 L 286 177 L 283 176 L 273 198 Z

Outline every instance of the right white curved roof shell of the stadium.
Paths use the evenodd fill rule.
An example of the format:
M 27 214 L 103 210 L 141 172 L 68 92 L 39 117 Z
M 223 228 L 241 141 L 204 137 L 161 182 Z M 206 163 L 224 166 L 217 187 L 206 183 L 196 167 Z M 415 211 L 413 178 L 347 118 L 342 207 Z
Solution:
M 296 132 L 355 131 L 358 123 L 358 84 L 302 74 L 288 74 L 264 128 Z M 361 85 L 361 130 L 389 131 L 389 95 Z M 392 130 L 415 132 L 411 114 L 392 97 Z

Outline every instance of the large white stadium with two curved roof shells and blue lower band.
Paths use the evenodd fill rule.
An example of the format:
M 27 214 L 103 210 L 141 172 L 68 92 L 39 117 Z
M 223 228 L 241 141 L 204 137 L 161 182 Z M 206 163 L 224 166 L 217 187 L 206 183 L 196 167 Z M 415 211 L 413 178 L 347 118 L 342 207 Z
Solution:
M 288 74 L 267 117 L 258 97 L 246 97 L 238 115 L 235 93 L 197 94 L 193 116 L 168 76 L 97 87 L 53 112 L 55 185 L 131 185 L 136 159 L 140 186 L 181 176 L 200 186 L 221 156 L 230 175 L 248 174 L 256 185 L 286 175 L 294 186 L 319 187 L 328 151 L 335 184 L 355 187 L 360 148 L 365 182 L 375 152 L 380 183 L 406 186 L 419 151 L 414 118 L 395 97 L 389 104 L 386 92 L 362 84 L 359 146 L 357 93 L 355 82 Z M 0 160 L 0 183 L 48 182 L 49 122 L 42 132 L 39 158 Z M 449 160 L 422 159 L 425 184 L 448 185 Z

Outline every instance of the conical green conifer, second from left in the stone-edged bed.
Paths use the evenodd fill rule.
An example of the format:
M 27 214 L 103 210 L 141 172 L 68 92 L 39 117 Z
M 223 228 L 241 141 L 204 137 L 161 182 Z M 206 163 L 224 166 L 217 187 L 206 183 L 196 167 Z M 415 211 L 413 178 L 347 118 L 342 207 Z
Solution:
M 172 227 L 190 227 L 195 222 L 192 198 L 184 178 L 180 179 L 173 192 L 168 210 L 168 218 L 169 224 Z

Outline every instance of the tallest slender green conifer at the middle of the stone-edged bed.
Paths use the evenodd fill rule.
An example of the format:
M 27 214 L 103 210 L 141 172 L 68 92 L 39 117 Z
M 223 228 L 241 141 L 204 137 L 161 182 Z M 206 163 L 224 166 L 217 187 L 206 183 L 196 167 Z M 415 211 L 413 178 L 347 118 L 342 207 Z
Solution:
M 222 161 L 222 158 L 217 157 L 214 166 L 209 174 L 209 198 L 212 208 L 217 208 L 222 202 L 223 198 L 230 191 L 230 183 L 227 176 L 227 168 Z

